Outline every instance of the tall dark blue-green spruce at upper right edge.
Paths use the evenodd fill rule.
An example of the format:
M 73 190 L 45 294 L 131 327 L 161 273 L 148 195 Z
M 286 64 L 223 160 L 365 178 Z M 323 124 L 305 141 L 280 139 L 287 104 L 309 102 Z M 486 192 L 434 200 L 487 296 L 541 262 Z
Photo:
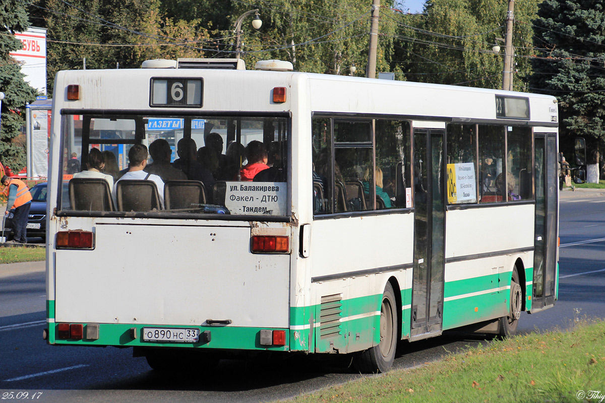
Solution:
M 605 144 L 605 1 L 546 0 L 535 24 L 532 87 L 558 98 L 560 143 L 586 138 L 589 182 L 598 182 Z

